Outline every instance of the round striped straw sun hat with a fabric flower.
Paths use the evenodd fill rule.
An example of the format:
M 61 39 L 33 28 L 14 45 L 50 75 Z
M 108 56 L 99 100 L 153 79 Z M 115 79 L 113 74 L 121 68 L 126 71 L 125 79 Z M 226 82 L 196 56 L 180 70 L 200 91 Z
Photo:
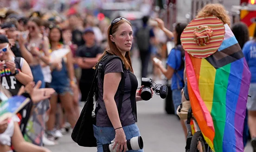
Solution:
M 216 16 L 198 17 L 180 36 L 183 49 L 193 57 L 206 58 L 220 47 L 225 35 L 223 22 Z

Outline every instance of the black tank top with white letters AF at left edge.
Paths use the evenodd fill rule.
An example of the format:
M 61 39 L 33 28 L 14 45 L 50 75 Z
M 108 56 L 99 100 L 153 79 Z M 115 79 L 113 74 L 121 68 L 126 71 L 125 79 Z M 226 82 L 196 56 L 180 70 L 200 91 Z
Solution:
M 12 61 L 16 64 L 16 69 L 21 71 L 21 68 L 24 63 L 24 58 L 22 57 L 13 57 Z M 12 73 L 9 68 L 5 67 L 4 69 L 0 70 L 1 74 L 1 85 L 10 91 L 12 95 L 17 95 L 19 89 L 23 85 L 21 82 L 16 80 L 15 76 L 11 76 Z

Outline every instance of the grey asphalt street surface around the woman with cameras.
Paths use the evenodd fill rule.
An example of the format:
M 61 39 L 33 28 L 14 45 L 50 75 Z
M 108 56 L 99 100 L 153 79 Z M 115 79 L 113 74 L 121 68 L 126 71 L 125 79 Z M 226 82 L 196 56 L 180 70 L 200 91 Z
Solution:
M 136 76 L 140 75 L 139 61 L 133 58 Z M 164 100 L 160 96 L 154 95 L 149 101 L 138 102 L 137 112 L 137 125 L 144 141 L 145 152 L 185 152 L 185 136 L 179 120 L 176 116 L 165 113 Z M 59 139 L 58 145 L 46 147 L 52 152 L 96 152 L 96 148 L 78 146 L 71 139 L 70 133 Z M 247 146 L 245 152 L 252 152 L 251 147 Z

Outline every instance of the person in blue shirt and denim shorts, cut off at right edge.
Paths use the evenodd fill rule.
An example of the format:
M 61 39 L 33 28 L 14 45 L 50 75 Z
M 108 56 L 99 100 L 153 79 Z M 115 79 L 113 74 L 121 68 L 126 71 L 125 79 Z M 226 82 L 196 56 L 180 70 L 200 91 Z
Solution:
M 256 152 L 256 30 L 254 38 L 243 46 L 243 55 L 251 72 L 251 82 L 247 101 L 248 126 L 251 135 L 251 145 Z

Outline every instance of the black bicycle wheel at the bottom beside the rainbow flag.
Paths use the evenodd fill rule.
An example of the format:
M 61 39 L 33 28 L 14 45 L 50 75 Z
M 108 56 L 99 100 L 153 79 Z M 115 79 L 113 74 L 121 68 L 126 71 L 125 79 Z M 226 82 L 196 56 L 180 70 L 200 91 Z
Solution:
M 191 144 L 190 144 L 190 152 L 200 152 L 198 149 L 198 143 L 200 141 L 201 147 L 202 147 L 202 152 L 208 152 L 208 146 L 205 145 L 205 139 L 203 137 L 203 134 L 198 131 L 194 133 L 192 136 Z

